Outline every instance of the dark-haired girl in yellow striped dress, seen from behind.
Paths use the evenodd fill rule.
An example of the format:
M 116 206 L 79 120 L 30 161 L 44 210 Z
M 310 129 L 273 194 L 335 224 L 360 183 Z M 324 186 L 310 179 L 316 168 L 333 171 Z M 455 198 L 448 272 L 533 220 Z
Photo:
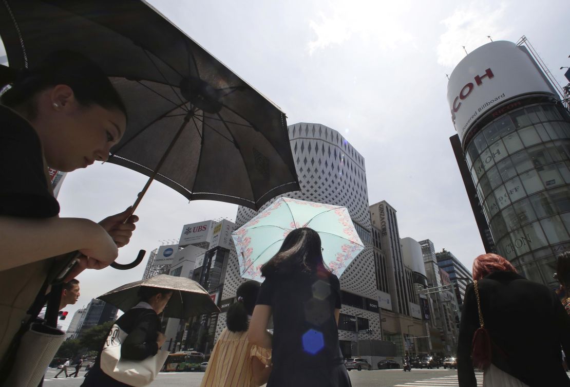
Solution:
M 227 311 L 223 329 L 210 356 L 200 387 L 258 387 L 271 373 L 271 349 L 249 342 L 247 328 L 259 283 L 247 281 L 236 292 L 237 301 Z

